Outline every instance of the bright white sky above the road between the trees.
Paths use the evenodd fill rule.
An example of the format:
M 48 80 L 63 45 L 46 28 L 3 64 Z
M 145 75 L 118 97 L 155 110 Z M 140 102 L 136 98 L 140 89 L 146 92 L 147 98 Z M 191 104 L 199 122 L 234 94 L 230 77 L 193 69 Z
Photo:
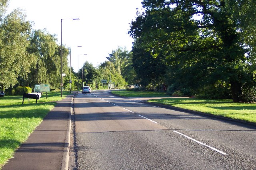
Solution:
M 136 17 L 136 8 L 142 9 L 142 0 L 9 0 L 7 13 L 16 8 L 24 10 L 27 20 L 34 21 L 34 29 L 46 28 L 71 48 L 71 64 L 75 71 L 85 61 L 94 66 L 118 46 L 132 49 L 133 39 L 128 35 L 130 22 Z M 82 46 L 82 47 L 77 47 Z M 87 55 L 83 55 L 87 54 Z M 70 56 L 68 57 L 70 58 Z

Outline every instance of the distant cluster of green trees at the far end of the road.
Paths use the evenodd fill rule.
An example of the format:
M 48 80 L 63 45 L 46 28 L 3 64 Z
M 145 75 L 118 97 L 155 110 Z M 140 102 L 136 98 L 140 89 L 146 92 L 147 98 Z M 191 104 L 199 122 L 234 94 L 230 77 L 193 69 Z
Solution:
M 111 79 L 111 83 L 114 83 L 116 88 L 124 88 L 128 84 L 134 84 L 136 74 L 132 67 L 131 52 L 128 52 L 125 47 L 118 47 L 116 50 L 113 50 L 106 59 L 108 59 L 108 61 L 101 63 L 98 68 L 95 68 L 88 62 L 83 64 L 78 72 L 81 81 L 78 82 L 78 84 L 81 84 L 80 87 L 82 87 L 82 80 L 84 80 L 84 84 L 90 84 L 94 89 L 108 87 L 108 85 L 103 84 L 101 80 L 107 80 L 109 84 Z M 77 79 L 77 77 L 73 78 L 75 84 L 77 84 Z M 66 82 L 67 81 L 66 79 Z M 68 84 L 66 85 L 67 88 L 70 88 Z

